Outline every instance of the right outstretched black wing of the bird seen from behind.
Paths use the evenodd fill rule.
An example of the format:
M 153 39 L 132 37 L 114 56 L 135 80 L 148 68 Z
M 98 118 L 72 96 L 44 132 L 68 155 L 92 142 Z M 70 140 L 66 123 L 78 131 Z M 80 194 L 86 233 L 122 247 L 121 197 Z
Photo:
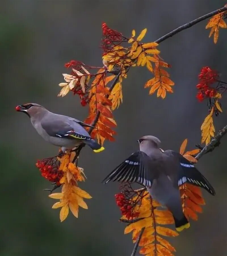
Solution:
M 164 152 L 168 156 L 173 156 L 179 161 L 178 171 L 178 186 L 184 183 L 190 183 L 197 187 L 206 189 L 211 195 L 215 195 L 215 190 L 209 181 L 196 169 L 194 163 L 188 161 L 181 154 L 172 150 L 166 150 Z

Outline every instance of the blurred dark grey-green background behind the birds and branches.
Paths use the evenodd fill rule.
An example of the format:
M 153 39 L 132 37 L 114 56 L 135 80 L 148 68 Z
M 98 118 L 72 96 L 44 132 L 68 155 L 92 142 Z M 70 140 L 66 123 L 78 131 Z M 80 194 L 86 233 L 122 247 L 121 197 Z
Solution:
M 172 65 L 174 93 L 162 100 L 149 96 L 145 82 L 152 78 L 146 68 L 132 68 L 123 81 L 123 104 L 114 112 L 117 136 L 106 142 L 106 150 L 94 154 L 84 148 L 79 158 L 88 177 L 80 187 L 93 199 L 79 218 L 69 214 L 60 223 L 56 200 L 43 191 L 51 185 L 35 167 L 38 159 L 54 156 L 58 148 L 41 140 L 26 115 L 15 106 L 39 103 L 52 112 L 84 120 L 88 109 L 78 96 L 57 98 L 64 63 L 76 59 L 88 65 L 102 65 L 101 25 L 131 35 L 147 28 L 144 42 L 152 42 L 177 26 L 214 11 L 226 2 L 205 0 L 8 0 L 1 2 L 1 256 L 127 256 L 133 250 L 131 234 L 118 222 L 120 211 L 114 194 L 118 184 L 101 184 L 102 179 L 137 149 L 136 140 L 155 135 L 163 149 L 178 151 L 188 138 L 188 150 L 200 142 L 200 126 L 208 114 L 206 103 L 196 96 L 197 75 L 210 66 L 226 74 L 227 30 L 220 29 L 217 45 L 205 30 L 207 20 L 189 28 L 159 46 L 161 56 Z M 133 70 L 133 71 L 132 71 Z M 226 97 L 223 113 L 214 118 L 217 131 L 227 124 Z M 227 255 L 226 143 L 204 156 L 198 168 L 209 179 L 217 195 L 204 192 L 207 205 L 191 228 L 171 239 L 176 255 Z M 169 240 L 169 239 L 168 239 Z M 170 240 L 169 240 L 170 241 Z

